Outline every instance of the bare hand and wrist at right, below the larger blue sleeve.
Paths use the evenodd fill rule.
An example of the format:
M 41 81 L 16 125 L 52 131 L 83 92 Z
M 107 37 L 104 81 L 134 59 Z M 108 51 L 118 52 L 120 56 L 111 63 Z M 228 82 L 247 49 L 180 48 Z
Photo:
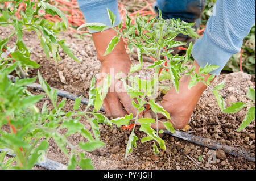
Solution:
M 196 66 L 196 73 L 199 73 L 200 66 L 196 61 L 194 61 L 193 65 Z M 204 81 L 206 81 L 209 76 L 210 74 L 204 75 Z M 207 86 L 199 82 L 189 90 L 188 85 L 190 80 L 190 76 L 181 77 L 179 81 L 179 93 L 172 87 L 172 89 L 164 95 L 163 100 L 160 103 L 160 105 L 170 113 L 171 120 L 167 120 L 161 114 L 158 114 L 158 119 L 160 121 L 170 121 L 175 129 L 182 129 L 187 125 L 200 96 L 203 94 L 204 90 L 207 89 Z M 155 113 L 150 110 L 144 114 L 144 117 L 155 118 Z M 152 124 L 152 128 L 156 129 L 156 124 Z M 166 128 L 159 122 L 158 129 Z

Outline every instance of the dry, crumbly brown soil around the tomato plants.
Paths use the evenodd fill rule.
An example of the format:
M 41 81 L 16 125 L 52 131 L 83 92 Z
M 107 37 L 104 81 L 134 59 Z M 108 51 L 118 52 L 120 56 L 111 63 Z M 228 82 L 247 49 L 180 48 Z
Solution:
M 6 37 L 10 34 L 10 30 L 0 27 L 0 37 Z M 90 80 L 93 75 L 100 71 L 100 62 L 97 60 L 96 49 L 94 48 L 92 39 L 88 37 L 77 38 L 68 32 L 63 32 L 59 37 L 66 39 L 71 48 L 75 50 L 76 57 L 79 58 L 80 64 L 71 60 L 64 52 L 60 52 L 62 62 L 58 65 L 53 60 L 47 60 L 44 52 L 34 32 L 25 32 L 23 40 L 26 45 L 32 48 L 31 59 L 38 62 L 41 67 L 39 69 L 29 69 L 29 77 L 35 77 L 39 70 L 43 78 L 50 86 L 72 92 L 76 95 L 83 95 L 88 98 L 88 90 Z M 15 42 L 15 37 L 11 39 Z M 132 57 L 132 56 L 130 56 Z M 133 64 L 138 61 L 131 58 Z M 145 62 L 144 68 L 151 63 Z M 59 74 L 65 77 L 65 83 L 60 81 Z M 152 71 L 143 69 L 139 76 L 142 78 L 151 77 Z M 231 73 L 220 75 L 214 79 L 213 85 L 220 83 L 225 79 L 225 87 L 221 90 L 221 95 L 225 98 L 225 102 L 230 106 L 231 103 L 245 102 L 249 100 L 246 98 L 247 87 L 255 89 L 253 82 L 251 82 L 251 75 L 246 73 Z M 33 94 L 42 94 L 40 91 L 30 91 Z M 58 98 L 58 101 L 66 98 Z M 73 107 L 73 100 L 67 100 L 64 110 L 71 111 Z M 37 106 L 42 108 L 43 103 L 47 102 L 49 108 L 51 103 L 44 99 L 40 101 Z M 81 105 L 80 110 L 84 110 L 85 105 Z M 246 150 L 252 153 L 255 157 L 255 121 L 241 132 L 236 129 L 240 126 L 243 117 L 245 117 L 246 109 L 235 114 L 225 114 L 220 111 L 217 106 L 216 99 L 212 92 L 207 89 L 201 96 L 195 111 L 189 121 L 189 133 L 197 136 L 210 138 L 216 140 L 224 145 L 234 146 L 236 148 Z M 104 113 L 105 114 L 105 113 Z M 89 121 L 85 118 L 81 119 L 81 123 L 85 125 L 86 129 L 90 130 Z M 62 133 L 65 130 L 61 130 Z M 158 157 L 152 153 L 152 141 L 141 144 L 137 141 L 137 148 L 127 157 L 124 157 L 127 140 L 130 131 L 122 131 L 117 127 L 110 127 L 101 124 L 101 141 L 105 142 L 106 146 L 96 151 L 86 152 L 87 157 L 92 159 L 95 169 L 255 169 L 255 163 L 246 161 L 243 158 L 234 157 L 216 151 L 217 159 L 215 163 L 210 163 L 208 159 L 211 156 L 211 149 L 204 146 L 192 144 L 191 142 L 181 140 L 167 134 L 160 135 L 166 142 L 167 151 L 160 151 Z M 135 129 L 135 134 L 141 139 L 146 136 L 140 132 L 138 128 Z M 69 137 L 72 144 L 76 145 L 79 141 L 85 141 L 79 134 Z M 84 151 L 85 152 L 85 151 Z M 199 162 L 201 156 L 201 167 L 196 166 L 186 154 L 191 158 L 195 158 Z M 68 158 L 61 152 L 57 144 L 53 140 L 49 140 L 49 148 L 47 150 L 47 158 L 53 161 L 68 164 Z M 38 169 L 36 167 L 35 169 Z

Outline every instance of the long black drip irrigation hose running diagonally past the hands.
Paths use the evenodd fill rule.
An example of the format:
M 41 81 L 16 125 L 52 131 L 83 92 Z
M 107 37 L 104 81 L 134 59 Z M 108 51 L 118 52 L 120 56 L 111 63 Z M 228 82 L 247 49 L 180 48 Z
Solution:
M 15 82 L 15 77 L 14 76 L 8 75 L 8 77 L 9 77 L 9 79 L 11 79 L 11 81 Z M 31 87 L 31 88 L 36 89 L 36 90 L 43 91 L 42 86 L 39 85 L 38 83 L 32 83 L 32 84 L 26 85 L 26 86 Z M 55 88 L 51 87 L 51 89 L 55 89 Z M 71 94 L 67 91 L 63 91 L 63 90 L 59 90 L 59 89 L 56 89 L 56 90 L 57 90 L 57 95 L 59 95 L 61 97 L 65 97 L 65 98 L 72 99 L 72 100 L 76 100 L 78 98 L 77 95 Z M 88 99 L 81 98 L 81 103 L 88 104 Z M 100 110 L 104 111 L 104 108 L 101 107 Z M 221 149 L 225 153 L 228 153 L 230 155 L 234 155 L 235 157 L 242 157 L 242 158 L 247 159 L 248 161 L 255 162 L 255 157 L 252 157 L 251 154 L 248 153 L 247 151 L 244 151 L 244 150 L 241 150 L 241 149 L 238 149 L 238 148 L 234 148 L 232 146 L 221 145 L 216 141 L 210 140 L 209 138 L 202 138 L 202 137 L 195 136 L 193 134 L 189 134 L 189 133 L 178 131 L 178 130 L 176 130 L 176 133 L 171 133 L 169 131 L 164 131 L 164 133 L 169 134 L 169 135 L 174 136 L 174 137 L 177 137 L 177 138 L 181 138 L 181 139 L 186 140 L 186 141 L 193 142 L 193 143 L 198 144 L 198 145 L 206 146 L 206 147 L 211 148 L 211 149 L 215 149 L 215 150 L 216 149 Z M 46 167 L 44 167 L 44 168 L 46 168 Z

